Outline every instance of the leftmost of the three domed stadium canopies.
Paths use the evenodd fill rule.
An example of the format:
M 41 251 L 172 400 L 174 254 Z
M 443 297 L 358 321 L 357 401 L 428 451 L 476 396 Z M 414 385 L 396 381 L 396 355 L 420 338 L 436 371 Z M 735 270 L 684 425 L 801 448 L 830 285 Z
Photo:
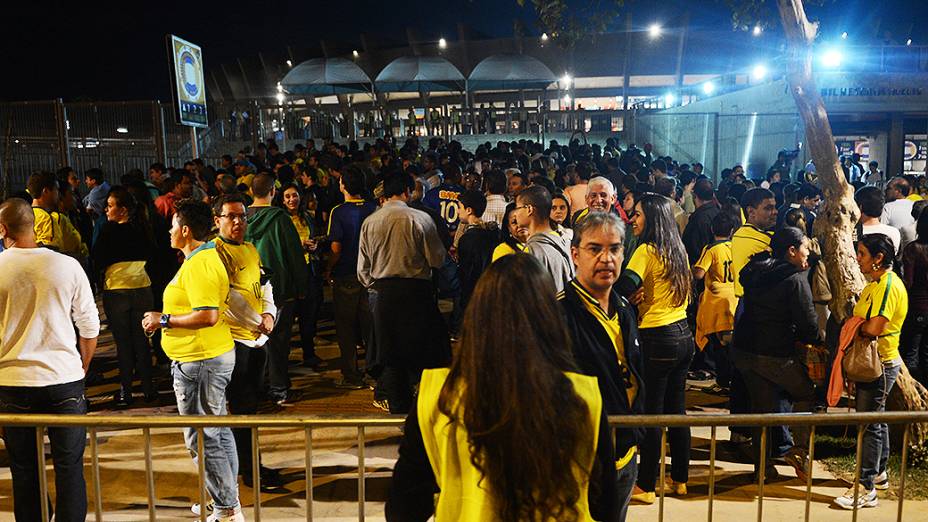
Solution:
M 280 85 L 288 94 L 330 96 L 371 92 L 371 79 L 358 64 L 346 58 L 307 60 L 291 69 Z

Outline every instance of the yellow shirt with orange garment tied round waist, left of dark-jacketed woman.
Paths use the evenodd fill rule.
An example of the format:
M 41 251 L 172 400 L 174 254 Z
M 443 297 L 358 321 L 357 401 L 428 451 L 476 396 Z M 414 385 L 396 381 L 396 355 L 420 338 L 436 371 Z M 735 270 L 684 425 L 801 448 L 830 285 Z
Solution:
M 705 271 L 705 290 L 696 311 L 696 345 L 705 348 L 707 336 L 735 327 L 735 278 L 732 274 L 731 240 L 709 243 L 693 265 Z

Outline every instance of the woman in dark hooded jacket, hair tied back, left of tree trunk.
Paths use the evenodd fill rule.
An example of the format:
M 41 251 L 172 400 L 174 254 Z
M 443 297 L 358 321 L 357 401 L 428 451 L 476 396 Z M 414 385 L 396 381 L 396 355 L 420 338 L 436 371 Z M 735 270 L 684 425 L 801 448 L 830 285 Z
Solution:
M 785 226 L 770 241 L 772 252 L 754 254 L 741 270 L 743 312 L 735 325 L 732 359 L 747 385 L 752 413 L 809 412 L 815 387 L 796 344 L 818 341 L 818 317 L 809 285 L 811 242 L 803 229 Z M 792 403 L 782 410 L 783 398 Z M 795 444 L 784 458 L 806 479 L 808 428 L 791 428 Z M 752 437 L 755 465 L 760 463 L 760 429 Z M 773 444 L 766 447 L 767 479 L 774 472 Z

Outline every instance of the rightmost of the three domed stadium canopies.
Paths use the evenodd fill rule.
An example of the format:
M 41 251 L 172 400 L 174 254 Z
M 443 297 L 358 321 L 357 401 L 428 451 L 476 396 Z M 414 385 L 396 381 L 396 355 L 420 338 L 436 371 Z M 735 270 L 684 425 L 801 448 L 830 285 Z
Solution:
M 494 54 L 474 67 L 467 79 L 471 91 L 544 89 L 557 81 L 547 65 L 525 54 Z

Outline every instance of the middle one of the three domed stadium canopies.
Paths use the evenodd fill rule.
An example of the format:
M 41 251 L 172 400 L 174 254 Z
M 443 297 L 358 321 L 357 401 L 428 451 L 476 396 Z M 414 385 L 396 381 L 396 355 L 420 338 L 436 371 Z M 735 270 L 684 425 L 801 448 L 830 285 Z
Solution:
M 464 75 L 440 56 L 401 56 L 380 71 L 379 92 L 463 91 Z

